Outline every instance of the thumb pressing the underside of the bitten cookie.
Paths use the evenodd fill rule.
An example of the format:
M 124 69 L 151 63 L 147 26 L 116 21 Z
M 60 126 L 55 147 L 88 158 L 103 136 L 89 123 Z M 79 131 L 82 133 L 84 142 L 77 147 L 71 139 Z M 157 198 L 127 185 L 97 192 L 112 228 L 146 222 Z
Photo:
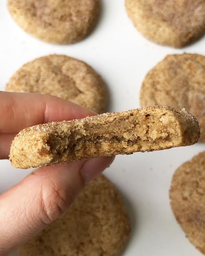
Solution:
M 10 252 L 58 218 L 84 185 L 114 158 L 41 167 L 0 195 L 0 255 Z

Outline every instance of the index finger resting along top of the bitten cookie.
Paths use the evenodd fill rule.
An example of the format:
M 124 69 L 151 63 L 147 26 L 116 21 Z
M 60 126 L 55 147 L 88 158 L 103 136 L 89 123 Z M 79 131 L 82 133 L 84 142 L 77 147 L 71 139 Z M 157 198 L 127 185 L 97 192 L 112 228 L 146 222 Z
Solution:
M 84 118 L 95 113 L 51 95 L 0 92 L 0 133 L 18 133 L 23 128 L 52 121 Z

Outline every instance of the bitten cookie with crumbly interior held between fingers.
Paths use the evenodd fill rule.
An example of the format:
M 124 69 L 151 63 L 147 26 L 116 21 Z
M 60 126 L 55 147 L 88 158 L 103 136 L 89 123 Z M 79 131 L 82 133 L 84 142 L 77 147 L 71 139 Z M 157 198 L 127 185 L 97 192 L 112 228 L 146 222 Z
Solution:
M 25 128 L 11 144 L 10 161 L 26 169 L 188 146 L 199 136 L 197 120 L 185 110 L 148 107 Z

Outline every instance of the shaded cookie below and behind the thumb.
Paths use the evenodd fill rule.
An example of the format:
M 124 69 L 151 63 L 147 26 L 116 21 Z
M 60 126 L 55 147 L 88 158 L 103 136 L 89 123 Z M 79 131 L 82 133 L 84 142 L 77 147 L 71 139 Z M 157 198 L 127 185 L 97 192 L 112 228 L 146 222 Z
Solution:
M 18 251 L 20 256 L 119 256 L 129 233 L 121 196 L 101 175 L 84 188 L 66 213 Z

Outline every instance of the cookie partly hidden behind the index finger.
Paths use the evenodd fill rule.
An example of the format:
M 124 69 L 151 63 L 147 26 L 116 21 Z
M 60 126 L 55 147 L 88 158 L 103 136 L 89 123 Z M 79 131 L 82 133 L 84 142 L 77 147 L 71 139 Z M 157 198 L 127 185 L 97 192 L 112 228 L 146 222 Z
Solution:
M 8 92 L 51 94 L 102 113 L 107 105 L 104 81 L 88 64 L 65 55 L 48 55 L 23 65 L 6 86 Z

